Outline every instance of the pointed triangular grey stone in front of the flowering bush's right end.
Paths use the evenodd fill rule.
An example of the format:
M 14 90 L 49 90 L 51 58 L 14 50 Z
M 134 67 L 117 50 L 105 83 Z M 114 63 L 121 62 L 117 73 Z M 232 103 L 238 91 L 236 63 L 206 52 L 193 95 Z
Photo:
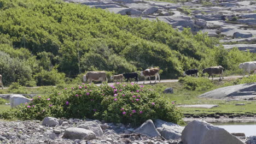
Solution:
M 147 135 L 149 137 L 160 136 L 160 133 L 155 129 L 155 125 L 151 119 L 148 119 L 140 127 L 135 129 L 133 133 L 139 133 L 139 134 Z

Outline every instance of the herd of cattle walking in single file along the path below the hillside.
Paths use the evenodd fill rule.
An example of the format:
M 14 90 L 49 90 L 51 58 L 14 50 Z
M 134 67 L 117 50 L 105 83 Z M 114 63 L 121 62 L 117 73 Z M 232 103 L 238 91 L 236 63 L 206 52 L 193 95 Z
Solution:
M 256 61 L 254 62 L 245 62 L 245 63 L 240 63 L 238 65 L 238 68 L 243 69 L 243 76 L 245 76 L 245 72 L 250 73 L 251 71 L 254 71 L 254 73 L 256 73 Z M 210 78 L 210 76 L 212 76 L 212 80 L 213 80 L 213 75 L 219 75 L 219 79 L 224 79 L 223 77 L 223 70 L 224 68 L 222 66 L 217 66 L 217 67 L 210 67 L 210 68 L 206 68 L 202 70 L 202 73 L 207 73 L 208 74 L 208 78 Z M 196 77 L 198 76 L 198 70 L 197 69 L 190 69 L 187 70 L 183 73 L 183 75 L 195 75 Z M 141 76 L 144 77 L 144 82 L 145 80 L 152 76 L 155 76 L 155 83 L 156 80 L 158 79 L 160 82 L 160 75 L 159 75 L 159 68 L 151 68 L 151 69 L 146 69 L 141 71 Z M 86 73 L 83 76 L 84 82 L 92 82 L 92 81 L 107 81 L 107 74 L 105 71 L 89 71 L 88 73 Z M 125 74 L 120 74 L 120 75 L 113 75 L 110 77 L 110 79 L 114 80 L 115 82 L 117 82 L 118 80 L 120 80 L 121 82 L 123 82 L 123 79 L 127 79 L 127 82 L 131 80 L 130 79 L 135 79 L 135 83 L 138 83 L 138 73 L 125 73 Z M 150 80 L 151 83 L 151 80 Z M 3 83 L 2 83 L 2 75 L 0 75 L 0 86 L 3 89 Z

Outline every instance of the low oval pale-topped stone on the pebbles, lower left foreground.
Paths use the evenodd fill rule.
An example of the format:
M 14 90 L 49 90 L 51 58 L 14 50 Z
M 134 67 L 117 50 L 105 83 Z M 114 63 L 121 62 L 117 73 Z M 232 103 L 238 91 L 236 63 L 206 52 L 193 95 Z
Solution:
M 96 135 L 93 131 L 83 128 L 67 128 L 62 138 L 72 140 L 92 140 L 96 139 Z

